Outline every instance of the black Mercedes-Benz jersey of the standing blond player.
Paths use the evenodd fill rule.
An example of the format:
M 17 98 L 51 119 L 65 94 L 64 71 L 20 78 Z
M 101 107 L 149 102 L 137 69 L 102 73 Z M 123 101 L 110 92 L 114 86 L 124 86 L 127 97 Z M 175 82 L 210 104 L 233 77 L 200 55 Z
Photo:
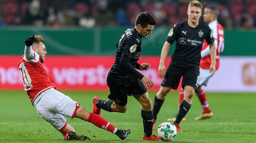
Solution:
M 188 21 L 175 24 L 166 37 L 172 44 L 176 40 L 176 47 L 170 64 L 182 66 L 199 66 L 203 40 L 208 44 L 214 43 L 214 38 L 208 25 L 199 22 L 197 27 L 188 25 Z

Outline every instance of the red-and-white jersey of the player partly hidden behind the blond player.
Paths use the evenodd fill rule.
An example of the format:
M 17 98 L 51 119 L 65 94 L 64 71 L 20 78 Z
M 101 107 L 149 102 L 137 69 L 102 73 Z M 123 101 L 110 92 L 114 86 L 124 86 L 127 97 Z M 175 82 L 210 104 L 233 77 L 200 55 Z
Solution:
M 208 26 L 211 28 L 214 36 L 214 43 L 216 46 L 216 67 L 215 69 L 219 69 L 219 55 L 220 52 L 224 49 L 224 30 L 222 26 L 214 20 L 213 22 L 209 23 Z M 201 50 L 201 61 L 200 61 L 200 68 L 203 69 L 210 69 L 211 65 L 211 56 L 210 56 L 210 48 L 207 42 L 204 40 L 203 47 Z

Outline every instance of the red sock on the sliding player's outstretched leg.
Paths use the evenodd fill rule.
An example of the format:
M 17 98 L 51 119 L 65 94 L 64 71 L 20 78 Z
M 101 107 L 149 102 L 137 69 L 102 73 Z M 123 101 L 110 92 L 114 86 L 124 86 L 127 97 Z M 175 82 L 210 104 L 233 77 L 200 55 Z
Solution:
M 117 131 L 117 128 L 115 128 L 110 122 L 102 118 L 101 116 L 98 116 L 94 113 L 90 113 L 88 121 L 93 123 L 95 126 L 108 130 L 110 132 L 115 133 Z

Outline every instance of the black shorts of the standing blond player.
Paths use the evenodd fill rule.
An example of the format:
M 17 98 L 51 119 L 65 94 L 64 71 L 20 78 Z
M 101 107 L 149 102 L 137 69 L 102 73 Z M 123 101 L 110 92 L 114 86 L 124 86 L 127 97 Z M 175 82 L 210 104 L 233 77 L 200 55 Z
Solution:
M 182 88 L 184 89 L 185 86 L 192 86 L 194 89 L 198 89 L 198 82 L 199 82 L 199 67 L 192 66 L 192 67 L 180 67 L 177 65 L 169 65 L 166 73 L 163 77 L 163 81 L 161 86 L 164 87 L 171 87 L 172 89 L 177 89 L 180 83 L 180 78 L 183 76 L 182 79 Z

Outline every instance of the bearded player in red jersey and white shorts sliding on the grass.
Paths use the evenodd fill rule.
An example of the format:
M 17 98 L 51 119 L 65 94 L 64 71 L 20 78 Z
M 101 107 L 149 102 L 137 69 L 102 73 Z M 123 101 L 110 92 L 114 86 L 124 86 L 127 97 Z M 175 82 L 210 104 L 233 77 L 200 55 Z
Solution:
M 85 135 L 77 135 L 64 116 L 89 121 L 99 128 L 115 133 L 121 140 L 127 138 L 130 130 L 118 130 L 101 116 L 90 113 L 56 90 L 53 79 L 42 65 L 47 54 L 42 36 L 33 35 L 25 40 L 25 44 L 25 54 L 18 63 L 24 89 L 39 115 L 61 132 L 64 140 L 90 140 Z

